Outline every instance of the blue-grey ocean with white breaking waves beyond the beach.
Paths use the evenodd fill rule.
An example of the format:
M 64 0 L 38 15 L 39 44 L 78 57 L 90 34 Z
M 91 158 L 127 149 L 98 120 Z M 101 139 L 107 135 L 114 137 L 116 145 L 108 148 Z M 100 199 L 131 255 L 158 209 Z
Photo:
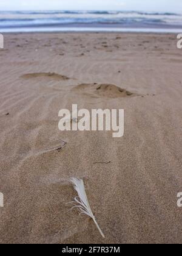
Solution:
M 182 15 L 118 11 L 0 12 L 0 33 L 58 31 L 182 33 Z

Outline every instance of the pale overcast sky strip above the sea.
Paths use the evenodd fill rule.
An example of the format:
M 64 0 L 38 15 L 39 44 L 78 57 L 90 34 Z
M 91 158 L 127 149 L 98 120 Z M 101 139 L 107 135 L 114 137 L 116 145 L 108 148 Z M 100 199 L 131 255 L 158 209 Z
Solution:
M 144 10 L 182 12 L 182 0 L 0 0 L 0 10 Z

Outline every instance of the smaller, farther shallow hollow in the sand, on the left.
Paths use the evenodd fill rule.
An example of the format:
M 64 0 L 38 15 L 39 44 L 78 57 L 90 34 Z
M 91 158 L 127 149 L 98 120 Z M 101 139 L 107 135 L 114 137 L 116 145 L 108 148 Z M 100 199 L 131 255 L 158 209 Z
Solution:
M 21 78 L 24 78 L 24 79 L 49 78 L 49 79 L 54 79 L 54 80 L 68 80 L 68 79 L 70 79 L 67 76 L 62 76 L 61 74 L 56 74 L 56 73 L 29 73 L 29 74 L 22 75 Z

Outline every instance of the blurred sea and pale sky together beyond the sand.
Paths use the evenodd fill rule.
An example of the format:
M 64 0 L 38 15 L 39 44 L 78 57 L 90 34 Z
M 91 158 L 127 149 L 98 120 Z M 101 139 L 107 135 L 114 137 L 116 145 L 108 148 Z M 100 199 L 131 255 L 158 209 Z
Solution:
M 182 32 L 181 0 L 1 0 L 0 32 Z

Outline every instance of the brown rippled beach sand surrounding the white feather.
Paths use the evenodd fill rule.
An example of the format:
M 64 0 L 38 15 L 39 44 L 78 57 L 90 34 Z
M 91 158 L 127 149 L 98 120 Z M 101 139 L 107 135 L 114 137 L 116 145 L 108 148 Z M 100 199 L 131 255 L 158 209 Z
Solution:
M 176 45 L 176 35 L 5 35 L 0 243 L 182 242 L 182 50 Z M 124 137 L 61 132 L 58 112 L 72 104 L 124 108 Z M 62 180 L 72 176 L 84 179 L 106 239 L 66 204 L 76 193 Z

